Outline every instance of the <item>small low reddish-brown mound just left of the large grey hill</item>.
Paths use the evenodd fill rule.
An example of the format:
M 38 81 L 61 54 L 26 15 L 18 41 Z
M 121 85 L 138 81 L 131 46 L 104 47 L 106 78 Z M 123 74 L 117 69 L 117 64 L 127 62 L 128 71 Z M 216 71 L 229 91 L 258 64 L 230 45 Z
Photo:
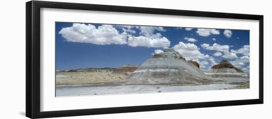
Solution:
M 114 75 L 130 75 L 138 67 L 139 67 L 139 65 L 126 64 L 126 65 L 124 65 L 124 66 L 122 66 L 120 68 L 117 68 L 117 69 L 113 70 L 112 74 L 114 74 Z

